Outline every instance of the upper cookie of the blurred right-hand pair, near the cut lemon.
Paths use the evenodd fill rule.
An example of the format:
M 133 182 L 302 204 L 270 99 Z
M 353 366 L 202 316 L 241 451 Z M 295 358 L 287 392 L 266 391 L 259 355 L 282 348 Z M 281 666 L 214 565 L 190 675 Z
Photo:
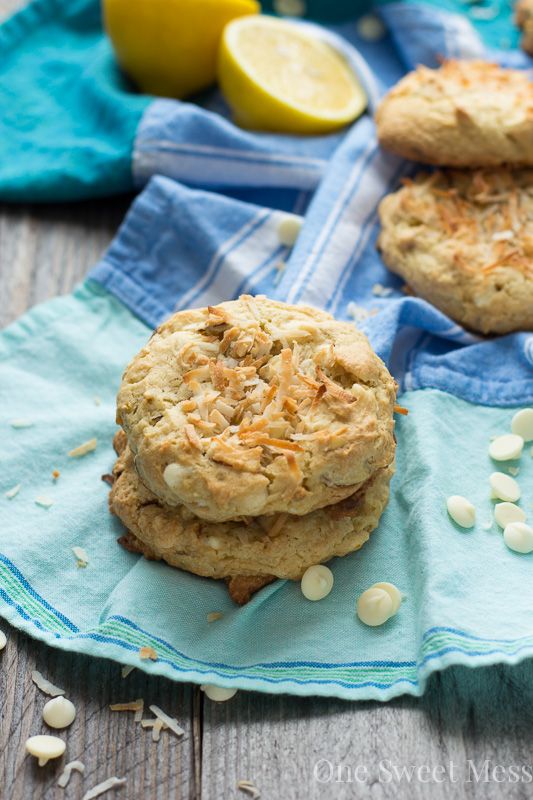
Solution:
M 383 148 L 449 167 L 533 166 L 533 82 L 484 61 L 418 67 L 376 113 Z

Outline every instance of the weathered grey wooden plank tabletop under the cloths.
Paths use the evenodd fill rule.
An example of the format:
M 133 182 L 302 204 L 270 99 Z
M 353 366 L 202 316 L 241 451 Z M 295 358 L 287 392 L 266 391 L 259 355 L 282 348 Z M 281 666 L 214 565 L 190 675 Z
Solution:
M 0 15 L 18 4 L 0 0 Z M 0 325 L 69 292 L 108 245 L 130 201 L 0 206 Z M 240 780 L 253 781 L 263 800 L 533 796 L 533 783 L 498 780 L 510 777 L 511 765 L 533 771 L 527 665 L 449 669 L 431 678 L 421 700 L 346 703 L 239 692 L 215 704 L 197 687 L 138 670 L 122 679 L 114 663 L 52 650 L 4 622 L 0 628 L 8 636 L 0 656 L 4 800 L 77 800 L 111 775 L 127 779 L 124 788 L 107 795 L 120 800 L 244 799 Z M 26 738 L 45 732 L 41 711 L 47 698 L 31 681 L 33 669 L 64 687 L 78 711 L 68 752 L 85 763 L 86 775 L 83 783 L 74 775 L 66 790 L 56 785 L 60 766 L 38 768 L 24 753 Z M 153 743 L 129 714 L 108 709 L 109 703 L 138 697 L 176 716 L 185 737 L 163 733 Z M 485 761 L 490 780 L 482 774 L 478 782 L 469 762 L 479 772 Z M 407 768 L 401 780 L 396 774 L 389 780 L 391 765 Z M 409 782 L 411 766 L 416 769 Z M 493 772 L 495 766 L 505 772 Z M 437 780 L 424 782 L 426 767 L 437 768 Z

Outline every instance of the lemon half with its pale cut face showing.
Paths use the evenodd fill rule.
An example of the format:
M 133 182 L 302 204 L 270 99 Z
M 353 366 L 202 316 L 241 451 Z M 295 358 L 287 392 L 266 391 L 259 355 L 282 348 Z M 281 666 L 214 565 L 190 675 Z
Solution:
M 292 22 L 242 17 L 224 29 L 218 80 L 245 128 L 318 134 L 366 108 L 363 88 L 329 44 Z

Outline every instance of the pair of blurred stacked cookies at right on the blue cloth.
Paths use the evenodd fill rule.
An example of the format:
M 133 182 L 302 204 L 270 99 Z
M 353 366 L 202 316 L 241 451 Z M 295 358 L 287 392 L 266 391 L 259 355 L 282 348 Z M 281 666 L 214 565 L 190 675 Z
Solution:
M 378 247 L 414 293 L 484 334 L 533 330 L 533 83 L 480 61 L 419 67 L 382 101 L 382 147 L 453 169 L 380 205 Z

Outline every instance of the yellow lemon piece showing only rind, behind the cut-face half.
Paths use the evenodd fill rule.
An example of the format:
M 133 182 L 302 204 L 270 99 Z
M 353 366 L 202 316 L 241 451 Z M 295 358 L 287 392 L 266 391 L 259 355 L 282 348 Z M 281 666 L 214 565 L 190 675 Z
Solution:
M 142 92 L 186 97 L 216 80 L 225 25 L 257 14 L 256 0 L 103 0 L 120 66 Z

